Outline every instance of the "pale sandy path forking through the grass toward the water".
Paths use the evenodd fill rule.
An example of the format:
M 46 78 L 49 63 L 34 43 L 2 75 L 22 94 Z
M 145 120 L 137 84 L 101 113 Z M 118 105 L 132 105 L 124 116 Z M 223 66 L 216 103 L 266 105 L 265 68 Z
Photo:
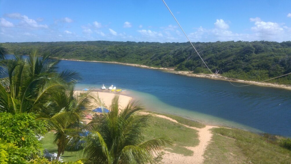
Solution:
M 178 121 L 171 119 L 169 117 L 163 116 L 163 115 L 158 115 L 155 114 L 155 116 L 157 117 L 161 117 L 164 119 L 168 119 L 170 121 L 173 121 L 175 123 L 178 123 Z M 178 123 L 180 124 L 180 123 Z M 181 124 L 183 125 L 183 124 Z M 199 136 L 199 144 L 196 147 L 185 147 L 191 151 L 193 151 L 193 155 L 192 156 L 183 156 L 181 154 L 175 154 L 175 153 L 171 153 L 168 151 L 165 151 L 165 155 L 163 156 L 163 160 L 162 162 L 168 164 L 168 163 L 172 163 L 172 164 L 176 164 L 176 163 L 189 163 L 189 164 L 196 164 L 196 163 L 203 163 L 204 161 L 204 157 L 203 154 L 206 150 L 207 145 L 209 144 L 211 138 L 212 138 L 212 133 L 210 132 L 211 128 L 217 128 L 217 126 L 206 126 L 205 128 L 195 128 L 195 127 L 191 127 L 191 126 L 187 126 L 187 125 L 183 125 L 186 126 L 187 128 L 192 128 L 198 131 L 198 136 Z

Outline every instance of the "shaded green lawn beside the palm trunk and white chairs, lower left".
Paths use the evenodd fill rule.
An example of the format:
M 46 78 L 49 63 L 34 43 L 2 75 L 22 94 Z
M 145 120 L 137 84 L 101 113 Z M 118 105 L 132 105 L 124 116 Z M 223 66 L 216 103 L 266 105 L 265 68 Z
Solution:
M 58 153 L 58 147 L 56 144 L 53 144 L 54 142 L 54 133 L 49 132 L 45 134 L 44 138 L 41 140 L 42 147 L 44 149 L 47 149 L 50 153 Z M 82 155 L 79 152 L 68 152 L 65 151 L 61 157 L 64 157 L 64 162 L 74 162 L 78 161 L 79 159 L 82 159 Z

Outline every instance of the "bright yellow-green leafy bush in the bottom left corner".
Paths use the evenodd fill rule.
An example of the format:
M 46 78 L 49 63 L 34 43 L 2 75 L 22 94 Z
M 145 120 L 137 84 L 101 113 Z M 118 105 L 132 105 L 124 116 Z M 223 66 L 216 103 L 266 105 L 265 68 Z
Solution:
M 4 154 L 1 163 L 26 163 L 38 156 L 41 144 L 36 135 L 46 132 L 46 124 L 35 118 L 31 113 L 0 112 L 0 157 Z

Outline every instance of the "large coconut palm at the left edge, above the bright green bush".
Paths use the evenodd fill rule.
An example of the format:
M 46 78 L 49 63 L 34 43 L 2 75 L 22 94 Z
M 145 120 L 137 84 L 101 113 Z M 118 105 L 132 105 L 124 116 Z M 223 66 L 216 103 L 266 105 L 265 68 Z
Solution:
M 41 114 L 52 95 L 77 80 L 72 71 L 57 73 L 59 61 L 50 56 L 35 52 L 27 60 L 15 56 L 0 61 L 0 112 Z

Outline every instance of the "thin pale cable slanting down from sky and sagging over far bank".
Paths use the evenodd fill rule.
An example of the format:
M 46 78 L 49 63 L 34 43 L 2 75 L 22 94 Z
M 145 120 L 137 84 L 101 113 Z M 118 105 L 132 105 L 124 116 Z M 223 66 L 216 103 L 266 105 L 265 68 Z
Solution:
M 175 18 L 174 14 L 173 14 L 172 11 L 170 10 L 170 8 L 169 8 L 168 5 L 166 4 L 166 2 L 165 2 L 164 0 L 162 0 L 162 1 L 164 2 L 164 4 L 166 5 L 166 7 L 168 8 L 169 12 L 171 13 L 171 15 L 173 16 L 173 18 L 175 19 L 175 21 L 176 21 L 177 24 L 179 25 L 180 29 L 183 31 L 183 33 L 184 33 L 184 35 L 186 36 L 186 38 L 189 40 L 190 44 L 192 45 L 192 47 L 194 48 L 194 50 L 196 51 L 196 53 L 198 54 L 198 56 L 200 57 L 200 59 L 203 61 L 203 63 L 205 64 L 205 66 L 208 68 L 207 64 L 204 62 L 204 60 L 202 59 L 202 57 L 200 56 L 200 54 L 198 53 L 198 51 L 196 50 L 196 48 L 195 48 L 194 45 L 192 44 L 191 40 L 188 38 L 188 36 L 187 36 L 187 34 L 185 33 L 185 31 L 182 29 L 181 25 L 179 24 L 178 20 Z M 212 71 L 211 71 L 209 68 L 208 68 L 208 70 L 212 73 Z M 225 75 L 225 73 L 222 71 L 222 69 L 221 69 L 221 72 L 222 72 L 223 75 L 226 77 L 226 75 Z M 283 76 L 290 75 L 290 74 L 291 74 L 291 72 L 290 72 L 290 73 L 287 73 L 287 74 L 285 74 L 285 75 L 281 75 L 281 76 L 273 77 L 273 78 L 268 79 L 268 80 L 276 79 L 276 78 L 278 78 L 278 77 L 283 77 Z M 214 75 L 214 74 L 212 73 L 212 75 Z M 233 84 L 233 83 L 230 82 L 230 80 L 229 80 L 228 77 L 226 77 L 226 79 L 228 80 L 228 82 L 229 82 L 231 85 L 233 85 L 233 86 L 235 86 L 235 87 L 245 87 L 245 86 L 249 86 L 249 85 L 253 85 L 253 84 L 259 83 L 259 82 L 255 82 L 255 83 L 253 83 L 253 84 L 247 84 L 247 85 L 235 85 L 235 84 Z M 268 81 L 268 80 L 264 80 L 264 81 L 261 81 L 261 82 L 265 82 L 265 81 Z

